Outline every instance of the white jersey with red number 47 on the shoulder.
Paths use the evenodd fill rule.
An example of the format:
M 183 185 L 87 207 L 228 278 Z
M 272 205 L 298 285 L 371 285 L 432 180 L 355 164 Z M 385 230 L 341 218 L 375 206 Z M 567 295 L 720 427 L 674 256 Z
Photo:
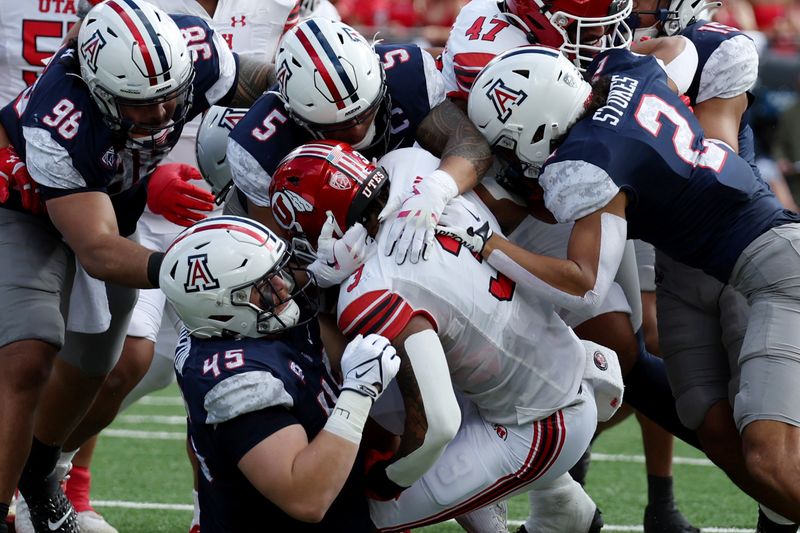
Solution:
M 496 0 L 472 0 L 456 17 L 442 52 L 442 75 L 447 96 L 467 99 L 478 72 L 494 56 L 530 44 Z

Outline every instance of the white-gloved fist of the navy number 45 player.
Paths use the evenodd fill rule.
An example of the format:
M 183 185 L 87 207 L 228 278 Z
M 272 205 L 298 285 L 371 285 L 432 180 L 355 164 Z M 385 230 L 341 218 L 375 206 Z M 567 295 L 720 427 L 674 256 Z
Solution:
M 400 370 L 400 356 L 386 337 L 358 335 L 345 347 L 341 366 L 342 390 L 350 389 L 374 402 Z

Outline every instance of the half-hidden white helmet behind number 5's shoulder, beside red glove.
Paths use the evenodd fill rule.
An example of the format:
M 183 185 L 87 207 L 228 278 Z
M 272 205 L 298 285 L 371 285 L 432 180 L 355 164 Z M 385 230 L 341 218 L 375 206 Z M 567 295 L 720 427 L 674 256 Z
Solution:
M 245 113 L 247 109 L 211 106 L 197 129 L 194 144 L 197 168 L 211 185 L 217 205 L 225 200 L 233 185 L 228 165 L 228 135 Z

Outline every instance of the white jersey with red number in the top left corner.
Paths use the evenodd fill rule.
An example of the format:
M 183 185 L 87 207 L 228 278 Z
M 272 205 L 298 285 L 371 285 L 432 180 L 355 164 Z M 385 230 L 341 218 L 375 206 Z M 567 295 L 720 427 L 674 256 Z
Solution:
M 0 105 L 16 98 L 44 70 L 44 61 L 78 22 L 78 0 L 0 1 Z

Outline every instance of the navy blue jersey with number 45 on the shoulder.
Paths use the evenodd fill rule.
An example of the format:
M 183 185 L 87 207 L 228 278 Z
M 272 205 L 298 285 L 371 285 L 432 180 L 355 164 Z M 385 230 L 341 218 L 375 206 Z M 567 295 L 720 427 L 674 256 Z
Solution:
M 300 424 L 311 441 L 328 420 L 339 388 L 325 366 L 316 321 L 276 338 L 196 339 L 184 331 L 175 371 L 200 464 L 203 531 L 372 531 L 360 461 L 319 524 L 291 518 L 237 467 L 272 433 Z

